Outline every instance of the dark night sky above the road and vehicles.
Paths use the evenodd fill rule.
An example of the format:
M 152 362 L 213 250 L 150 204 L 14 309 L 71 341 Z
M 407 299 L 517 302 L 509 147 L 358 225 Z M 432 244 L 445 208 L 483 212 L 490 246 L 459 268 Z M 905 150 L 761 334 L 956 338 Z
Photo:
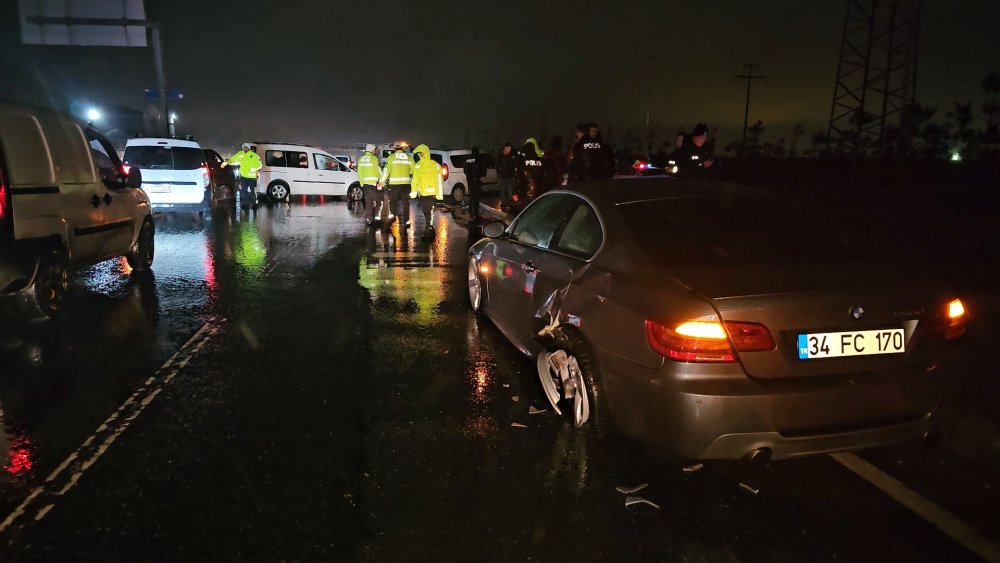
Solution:
M 16 10 L 2 0 L 2 13 Z M 767 75 L 751 120 L 768 138 L 825 129 L 842 0 L 407 2 L 147 0 L 163 24 L 178 131 L 225 148 L 246 138 L 318 145 L 405 137 L 432 144 L 568 135 L 580 120 L 640 130 L 647 82 L 662 133 L 742 126 L 742 63 Z M 918 101 L 979 105 L 1000 70 L 1000 2 L 925 0 Z M 0 97 L 143 108 L 148 49 L 29 47 L 0 19 Z M 651 55 L 655 58 L 650 60 Z

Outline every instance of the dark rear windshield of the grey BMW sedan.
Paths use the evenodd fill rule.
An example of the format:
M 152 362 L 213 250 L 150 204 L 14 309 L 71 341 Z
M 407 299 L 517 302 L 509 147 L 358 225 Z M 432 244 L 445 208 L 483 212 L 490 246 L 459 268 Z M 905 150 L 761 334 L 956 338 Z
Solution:
M 619 206 L 650 261 L 754 266 L 862 258 L 862 246 L 805 203 L 768 196 L 692 197 Z

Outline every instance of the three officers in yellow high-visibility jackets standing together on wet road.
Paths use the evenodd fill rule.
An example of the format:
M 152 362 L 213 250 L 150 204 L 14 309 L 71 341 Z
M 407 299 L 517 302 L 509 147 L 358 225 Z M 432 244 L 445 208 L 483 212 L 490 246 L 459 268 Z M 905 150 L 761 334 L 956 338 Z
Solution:
M 393 152 L 385 165 L 379 164 L 377 147 L 365 146 L 365 153 L 358 159 L 358 178 L 365 198 L 365 222 L 372 226 L 375 210 L 383 198 L 388 200 L 392 221 L 402 217 L 402 225 L 410 226 L 410 200 L 418 201 L 424 214 L 424 237 L 434 235 L 434 205 L 444 200 L 444 180 L 441 165 L 431 158 L 427 145 L 418 145 L 413 155 L 406 152 L 402 143 L 394 143 Z

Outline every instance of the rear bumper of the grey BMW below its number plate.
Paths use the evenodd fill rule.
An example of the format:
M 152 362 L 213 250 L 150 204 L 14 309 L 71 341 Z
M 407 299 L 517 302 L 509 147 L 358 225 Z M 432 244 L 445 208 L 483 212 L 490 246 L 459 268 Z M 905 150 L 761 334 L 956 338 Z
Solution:
M 909 368 L 853 377 L 753 380 L 692 377 L 615 357 L 601 361 L 611 414 L 624 434 L 689 459 L 773 459 L 881 446 L 926 436 L 936 371 Z

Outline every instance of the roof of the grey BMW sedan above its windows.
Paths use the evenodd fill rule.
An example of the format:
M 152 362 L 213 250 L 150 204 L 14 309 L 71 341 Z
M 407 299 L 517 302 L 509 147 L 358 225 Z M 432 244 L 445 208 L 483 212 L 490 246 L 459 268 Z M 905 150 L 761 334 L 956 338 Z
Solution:
M 570 184 L 566 190 L 587 197 L 598 207 L 675 198 L 767 193 L 758 188 L 733 182 L 703 178 L 621 178 Z

